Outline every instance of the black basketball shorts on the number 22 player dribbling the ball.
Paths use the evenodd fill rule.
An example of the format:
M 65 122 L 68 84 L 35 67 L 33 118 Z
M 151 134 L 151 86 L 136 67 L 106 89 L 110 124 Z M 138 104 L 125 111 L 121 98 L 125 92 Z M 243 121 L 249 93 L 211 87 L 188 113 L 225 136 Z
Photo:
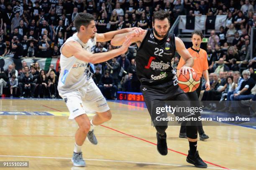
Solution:
M 190 107 L 190 102 L 187 95 L 179 88 L 178 85 L 174 85 L 173 81 L 170 81 L 165 84 L 159 84 L 154 86 L 141 85 L 141 92 L 144 97 L 144 101 L 148 108 L 148 112 L 151 116 L 151 120 L 154 125 L 167 125 L 166 121 L 159 122 L 156 121 L 156 117 L 159 114 L 156 114 L 157 107 L 166 107 L 166 102 L 164 101 L 182 101 L 182 107 Z M 184 102 L 183 102 L 184 101 Z M 179 102 L 180 103 L 180 102 Z M 175 113 L 174 113 L 175 114 Z M 188 116 L 190 114 L 179 114 L 175 116 Z M 166 113 L 161 113 L 161 117 L 167 117 Z

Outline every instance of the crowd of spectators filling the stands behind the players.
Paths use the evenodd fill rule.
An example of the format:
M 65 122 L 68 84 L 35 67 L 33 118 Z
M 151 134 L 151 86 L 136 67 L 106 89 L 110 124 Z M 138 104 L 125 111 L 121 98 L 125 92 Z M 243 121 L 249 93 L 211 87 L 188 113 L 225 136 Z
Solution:
M 255 99 L 255 49 L 250 55 L 250 34 L 256 25 L 254 0 L 0 0 L 0 56 L 59 58 L 60 47 L 77 31 L 73 20 L 80 12 L 91 13 L 97 32 L 105 33 L 152 28 L 152 15 L 158 10 L 169 12 L 171 25 L 178 15 L 227 15 L 225 25 L 210 32 L 207 59 L 211 90 L 202 89 L 201 98 L 232 101 L 254 95 Z M 114 48 L 106 42 L 97 43 L 92 50 L 100 53 Z M 109 99 L 116 98 L 116 91 L 140 91 L 135 56 L 133 45 L 127 53 L 95 65 L 93 79 Z M 174 68 L 178 62 L 177 56 Z M 11 96 L 59 97 L 60 68 L 55 68 L 56 72 L 53 67 L 45 71 L 34 63 L 24 64 L 19 71 L 15 64 L 5 71 L 1 68 L 0 95 L 3 87 L 8 87 Z

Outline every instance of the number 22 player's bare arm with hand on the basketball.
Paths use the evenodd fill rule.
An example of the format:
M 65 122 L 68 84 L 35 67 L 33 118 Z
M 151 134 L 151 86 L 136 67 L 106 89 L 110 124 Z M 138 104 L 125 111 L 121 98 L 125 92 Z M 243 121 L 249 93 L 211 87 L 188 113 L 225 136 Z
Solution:
M 180 72 L 182 74 L 187 74 L 187 71 L 189 71 L 189 73 L 191 73 L 191 70 L 194 71 L 194 69 L 191 68 L 192 66 L 194 66 L 194 59 L 189 53 L 189 51 L 187 51 L 183 41 L 178 37 L 175 37 L 175 46 L 177 52 L 185 61 L 184 66 L 180 68 Z

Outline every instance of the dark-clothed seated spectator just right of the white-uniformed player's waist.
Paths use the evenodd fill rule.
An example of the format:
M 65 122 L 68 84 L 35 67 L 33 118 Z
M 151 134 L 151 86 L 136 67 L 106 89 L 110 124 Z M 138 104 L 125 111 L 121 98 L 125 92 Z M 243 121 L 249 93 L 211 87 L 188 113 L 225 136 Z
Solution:
M 113 77 L 109 75 L 108 70 L 106 70 L 104 75 L 102 75 L 100 78 L 99 89 L 103 95 L 110 93 L 111 99 L 115 99 L 115 92 L 117 91 L 117 86 L 114 85 Z

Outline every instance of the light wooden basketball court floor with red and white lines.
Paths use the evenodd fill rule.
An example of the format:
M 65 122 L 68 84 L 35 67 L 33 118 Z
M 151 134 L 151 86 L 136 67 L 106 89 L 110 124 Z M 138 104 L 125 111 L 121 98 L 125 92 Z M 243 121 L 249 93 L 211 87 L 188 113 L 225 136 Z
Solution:
M 77 124 L 68 120 L 64 101 L 0 99 L 0 161 L 29 161 L 29 168 L 4 170 L 194 170 L 186 162 L 186 139 L 179 127 L 167 132 L 168 155 L 156 150 L 156 131 L 145 108 L 108 102 L 113 117 L 97 126 L 98 145 L 86 141 L 87 167 L 72 167 Z M 59 116 L 3 115 L 12 112 L 56 112 Z M 63 113 L 63 114 L 62 114 Z M 2 114 L 2 115 L 1 115 Z M 209 169 L 256 169 L 256 130 L 241 126 L 205 126 L 200 157 Z

